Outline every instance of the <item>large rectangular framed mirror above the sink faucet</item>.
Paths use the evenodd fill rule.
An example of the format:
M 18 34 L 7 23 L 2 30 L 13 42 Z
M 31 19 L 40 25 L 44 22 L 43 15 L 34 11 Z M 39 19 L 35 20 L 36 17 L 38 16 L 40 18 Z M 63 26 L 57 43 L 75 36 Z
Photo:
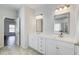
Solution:
M 54 16 L 54 32 L 70 32 L 70 13 L 64 13 Z

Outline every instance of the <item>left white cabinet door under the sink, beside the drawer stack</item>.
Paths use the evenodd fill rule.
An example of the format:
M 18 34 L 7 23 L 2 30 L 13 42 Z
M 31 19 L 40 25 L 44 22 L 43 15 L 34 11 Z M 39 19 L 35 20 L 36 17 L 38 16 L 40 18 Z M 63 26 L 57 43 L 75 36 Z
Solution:
M 56 55 L 56 41 L 52 39 L 46 39 L 46 54 Z

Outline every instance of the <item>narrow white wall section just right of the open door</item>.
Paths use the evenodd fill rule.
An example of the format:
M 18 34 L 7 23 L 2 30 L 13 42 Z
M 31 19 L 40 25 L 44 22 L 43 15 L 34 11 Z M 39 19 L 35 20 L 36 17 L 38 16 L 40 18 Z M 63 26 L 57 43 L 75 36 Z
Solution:
M 25 11 L 24 7 L 22 7 L 19 11 L 19 17 L 21 20 L 21 47 L 25 47 Z

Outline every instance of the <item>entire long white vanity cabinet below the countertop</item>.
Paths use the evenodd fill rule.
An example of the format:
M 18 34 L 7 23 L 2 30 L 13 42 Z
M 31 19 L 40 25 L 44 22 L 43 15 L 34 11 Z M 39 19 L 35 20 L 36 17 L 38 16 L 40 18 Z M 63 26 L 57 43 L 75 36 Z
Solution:
M 41 36 L 31 36 L 29 46 L 45 55 L 74 55 L 72 43 Z

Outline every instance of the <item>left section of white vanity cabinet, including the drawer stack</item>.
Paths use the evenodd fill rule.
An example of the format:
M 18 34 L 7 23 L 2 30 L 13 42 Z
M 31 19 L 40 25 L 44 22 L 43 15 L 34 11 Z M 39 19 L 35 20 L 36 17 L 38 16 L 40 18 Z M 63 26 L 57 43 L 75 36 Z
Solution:
M 45 39 L 39 36 L 29 37 L 29 47 L 37 50 L 38 52 L 45 54 Z

